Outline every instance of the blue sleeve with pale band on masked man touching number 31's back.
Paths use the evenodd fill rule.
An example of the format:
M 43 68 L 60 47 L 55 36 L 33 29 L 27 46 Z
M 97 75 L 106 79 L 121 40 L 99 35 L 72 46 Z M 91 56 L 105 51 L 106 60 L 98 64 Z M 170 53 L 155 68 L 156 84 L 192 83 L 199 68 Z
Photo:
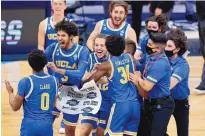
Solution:
M 145 77 L 146 80 L 156 84 L 168 72 L 171 72 L 170 64 L 168 63 L 169 62 L 166 62 L 165 60 L 159 60 L 151 65 Z M 169 65 L 169 68 L 167 65 Z

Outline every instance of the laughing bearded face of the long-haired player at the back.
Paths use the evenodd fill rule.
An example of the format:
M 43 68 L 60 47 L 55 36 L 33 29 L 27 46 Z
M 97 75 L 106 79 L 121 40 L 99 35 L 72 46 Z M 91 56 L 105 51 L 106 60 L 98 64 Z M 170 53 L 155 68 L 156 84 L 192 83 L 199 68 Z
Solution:
M 111 17 L 112 24 L 114 26 L 116 26 L 116 27 L 121 26 L 126 18 L 124 7 L 115 6 L 113 8 L 113 10 L 110 12 L 110 17 Z

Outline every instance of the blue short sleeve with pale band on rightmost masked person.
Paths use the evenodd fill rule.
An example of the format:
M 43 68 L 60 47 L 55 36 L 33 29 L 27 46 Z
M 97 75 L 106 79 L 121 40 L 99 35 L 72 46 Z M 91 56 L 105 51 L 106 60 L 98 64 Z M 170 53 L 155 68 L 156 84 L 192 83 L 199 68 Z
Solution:
M 180 82 L 183 79 L 188 78 L 189 76 L 188 73 L 189 73 L 189 66 L 185 64 L 181 64 L 174 69 L 171 77 L 176 78 Z

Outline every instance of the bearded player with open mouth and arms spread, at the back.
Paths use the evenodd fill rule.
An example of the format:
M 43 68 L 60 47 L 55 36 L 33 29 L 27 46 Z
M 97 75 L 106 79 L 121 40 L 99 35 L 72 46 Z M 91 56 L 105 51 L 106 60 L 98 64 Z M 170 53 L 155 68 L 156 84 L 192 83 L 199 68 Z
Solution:
M 136 33 L 125 20 L 128 4 L 124 1 L 112 1 L 109 5 L 110 18 L 99 21 L 87 41 L 88 48 L 93 51 L 93 42 L 98 34 L 121 35 L 137 43 Z

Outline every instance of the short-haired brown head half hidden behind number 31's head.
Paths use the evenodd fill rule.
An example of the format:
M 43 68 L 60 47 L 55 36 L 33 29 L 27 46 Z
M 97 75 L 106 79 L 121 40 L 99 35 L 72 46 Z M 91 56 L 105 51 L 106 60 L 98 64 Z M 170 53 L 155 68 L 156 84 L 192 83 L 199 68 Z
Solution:
M 125 40 L 125 52 L 134 56 L 136 51 L 136 44 L 133 40 L 126 39 Z

